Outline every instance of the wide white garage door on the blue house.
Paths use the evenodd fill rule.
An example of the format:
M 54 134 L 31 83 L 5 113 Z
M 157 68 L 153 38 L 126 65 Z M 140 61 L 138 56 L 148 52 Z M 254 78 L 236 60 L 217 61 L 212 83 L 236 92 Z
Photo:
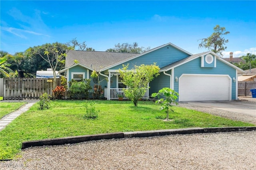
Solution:
M 226 75 L 182 75 L 179 101 L 229 100 L 230 78 Z

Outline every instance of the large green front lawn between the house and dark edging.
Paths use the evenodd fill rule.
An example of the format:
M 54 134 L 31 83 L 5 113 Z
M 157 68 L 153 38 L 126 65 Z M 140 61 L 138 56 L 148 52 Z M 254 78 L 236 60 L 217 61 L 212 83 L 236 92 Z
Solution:
M 97 119 L 83 119 L 84 101 L 53 101 L 50 109 L 38 110 L 37 104 L 0 131 L 0 159 L 14 158 L 23 141 L 60 138 L 108 132 L 128 132 L 188 127 L 254 126 L 207 113 L 174 107 L 173 121 L 163 121 L 160 105 L 140 101 L 94 101 L 100 110 Z

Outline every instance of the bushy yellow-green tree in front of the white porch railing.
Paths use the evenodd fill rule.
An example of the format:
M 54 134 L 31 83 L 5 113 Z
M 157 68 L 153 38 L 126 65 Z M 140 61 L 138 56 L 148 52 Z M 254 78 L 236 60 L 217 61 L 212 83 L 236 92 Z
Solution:
M 134 69 L 131 70 L 128 70 L 128 67 L 129 64 L 123 65 L 123 68 L 119 69 L 119 73 L 124 85 L 128 86 L 128 89 L 124 89 L 124 94 L 136 107 L 138 100 L 144 96 L 148 83 L 159 75 L 160 68 L 156 63 L 153 65 L 134 65 Z

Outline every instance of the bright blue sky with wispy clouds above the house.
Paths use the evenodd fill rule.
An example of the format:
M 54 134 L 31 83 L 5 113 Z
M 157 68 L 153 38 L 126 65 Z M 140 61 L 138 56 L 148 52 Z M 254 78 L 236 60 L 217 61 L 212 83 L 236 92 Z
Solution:
M 73 38 L 105 51 L 116 43 L 168 42 L 200 53 L 217 24 L 230 34 L 224 57 L 256 54 L 256 1 L 0 1 L 0 50 L 11 54 Z

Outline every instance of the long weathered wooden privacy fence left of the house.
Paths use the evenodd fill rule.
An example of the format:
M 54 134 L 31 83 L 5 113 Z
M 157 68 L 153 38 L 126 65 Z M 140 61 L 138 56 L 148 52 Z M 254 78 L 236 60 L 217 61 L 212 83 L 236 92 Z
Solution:
M 57 79 L 56 85 L 60 85 Z M 52 96 L 53 79 L 4 78 L 4 100 L 38 99 L 43 93 Z

